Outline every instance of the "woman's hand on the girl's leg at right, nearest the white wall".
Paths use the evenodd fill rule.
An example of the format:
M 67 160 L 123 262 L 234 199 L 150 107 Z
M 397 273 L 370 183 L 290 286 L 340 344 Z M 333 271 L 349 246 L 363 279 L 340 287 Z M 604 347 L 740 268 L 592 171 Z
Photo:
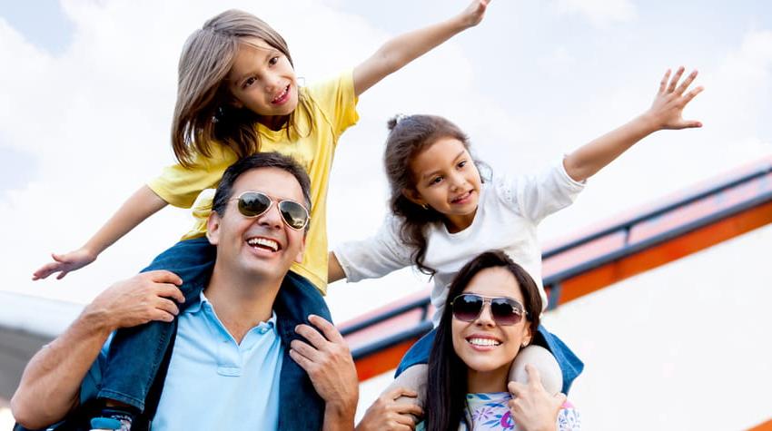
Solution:
M 510 382 L 512 399 L 509 402 L 510 413 L 515 423 L 526 431 L 554 431 L 557 429 L 560 407 L 566 402 L 563 394 L 550 395 L 541 386 L 539 370 L 531 365 L 525 366 L 528 372 L 528 384 Z

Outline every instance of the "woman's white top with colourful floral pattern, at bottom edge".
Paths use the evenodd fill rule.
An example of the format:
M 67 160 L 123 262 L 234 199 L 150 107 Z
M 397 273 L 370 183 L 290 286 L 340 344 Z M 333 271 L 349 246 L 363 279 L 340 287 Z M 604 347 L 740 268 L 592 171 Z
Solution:
M 510 415 L 510 407 L 507 407 L 510 399 L 512 397 L 509 392 L 467 394 L 467 406 L 469 407 L 467 414 L 471 419 L 472 429 L 468 430 L 466 425 L 461 423 L 459 431 L 520 430 Z M 422 422 L 416 426 L 416 431 L 424 431 L 425 429 Z M 579 412 L 567 401 L 558 414 L 558 431 L 579 431 L 580 429 Z

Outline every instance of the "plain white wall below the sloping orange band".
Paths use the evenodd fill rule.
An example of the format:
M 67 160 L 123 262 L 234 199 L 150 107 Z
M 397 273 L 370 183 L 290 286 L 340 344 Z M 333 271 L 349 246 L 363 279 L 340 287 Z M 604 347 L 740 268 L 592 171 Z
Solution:
M 586 364 L 570 393 L 584 428 L 738 430 L 772 418 L 770 245 L 772 226 L 549 313 L 544 324 Z M 390 381 L 361 385 L 360 416 Z

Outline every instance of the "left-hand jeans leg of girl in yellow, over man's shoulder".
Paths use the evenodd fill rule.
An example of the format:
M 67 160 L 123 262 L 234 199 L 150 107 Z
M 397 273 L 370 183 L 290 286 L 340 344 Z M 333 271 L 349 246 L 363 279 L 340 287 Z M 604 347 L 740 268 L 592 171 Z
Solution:
M 206 284 L 214 266 L 215 248 L 206 238 L 183 240 L 159 255 L 147 272 L 167 269 L 183 279 L 180 289 L 185 296 L 180 311 L 195 302 Z M 144 399 L 153 384 L 163 354 L 169 346 L 173 324 L 153 321 L 135 328 L 119 329 L 114 334 L 107 355 L 107 367 L 98 397 L 118 401 L 144 410 Z

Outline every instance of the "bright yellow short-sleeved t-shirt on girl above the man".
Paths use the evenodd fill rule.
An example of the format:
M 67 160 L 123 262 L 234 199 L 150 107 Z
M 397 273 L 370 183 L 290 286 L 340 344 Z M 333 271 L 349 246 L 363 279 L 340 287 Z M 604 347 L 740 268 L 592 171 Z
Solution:
M 332 156 L 341 133 L 359 120 L 353 73 L 341 73 L 330 81 L 304 87 L 301 92 L 309 100 L 310 110 L 298 103 L 295 118 L 300 136 L 292 133 L 294 141 L 288 138 L 286 130 L 272 131 L 262 124 L 255 127 L 260 134 L 261 152 L 291 156 L 311 178 L 311 226 L 303 261 L 292 265 L 292 270 L 309 279 L 324 294 L 327 292 L 327 183 Z M 308 133 L 309 130 L 312 132 Z M 192 169 L 174 164 L 148 183 L 163 201 L 175 207 L 193 207 L 196 222 L 183 240 L 201 237 L 206 232 L 214 192 L 205 190 L 216 188 L 225 169 L 236 159 L 230 148 L 215 144 L 211 157 L 195 156 Z

